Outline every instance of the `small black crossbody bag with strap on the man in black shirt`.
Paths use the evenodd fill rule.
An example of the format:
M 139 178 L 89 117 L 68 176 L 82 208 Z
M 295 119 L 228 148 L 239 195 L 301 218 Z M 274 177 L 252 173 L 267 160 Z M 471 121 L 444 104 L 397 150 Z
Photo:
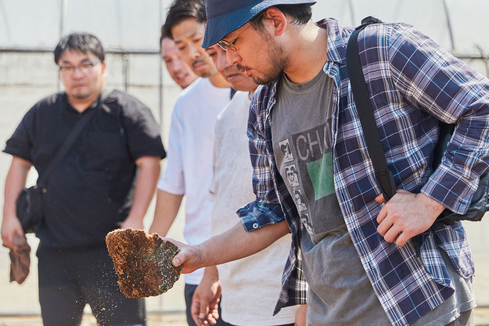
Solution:
M 68 134 L 65 142 L 54 155 L 53 159 L 47 166 L 43 175 L 37 180 L 37 185 L 30 188 L 22 189 L 17 197 L 17 217 L 21 221 L 24 233 L 35 233 L 43 221 L 43 195 L 47 192 L 47 178 L 53 172 L 54 167 L 61 162 L 61 159 L 69 152 L 76 138 L 80 135 L 83 128 L 88 124 L 95 112 L 100 108 L 104 99 L 110 91 L 104 91 L 100 96 L 96 109 L 83 115 L 76 123 L 75 127 Z

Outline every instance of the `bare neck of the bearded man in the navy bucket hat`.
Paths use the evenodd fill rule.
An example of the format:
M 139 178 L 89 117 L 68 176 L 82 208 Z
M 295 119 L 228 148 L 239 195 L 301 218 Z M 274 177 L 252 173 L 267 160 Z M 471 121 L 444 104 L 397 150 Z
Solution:
M 328 31 L 308 22 L 294 34 L 289 47 L 292 55 L 284 72 L 291 82 L 304 84 L 321 71 L 327 60 Z

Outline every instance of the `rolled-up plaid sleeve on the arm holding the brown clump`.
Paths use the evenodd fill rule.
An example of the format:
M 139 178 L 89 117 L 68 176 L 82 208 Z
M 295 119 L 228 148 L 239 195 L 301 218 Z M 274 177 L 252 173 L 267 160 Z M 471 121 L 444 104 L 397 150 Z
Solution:
M 264 127 L 257 114 L 264 101 L 259 98 L 259 93 L 256 91 L 251 101 L 247 130 L 250 159 L 253 166 L 253 191 L 256 200 L 236 212 L 246 231 L 253 231 L 262 226 L 285 220 L 275 190 L 270 165 L 271 155 L 268 153 L 267 143 L 263 136 Z

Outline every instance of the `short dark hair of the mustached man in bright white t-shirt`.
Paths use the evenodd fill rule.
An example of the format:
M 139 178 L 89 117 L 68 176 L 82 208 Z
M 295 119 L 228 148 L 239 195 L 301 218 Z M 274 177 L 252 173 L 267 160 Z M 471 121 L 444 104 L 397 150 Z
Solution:
M 202 7 L 205 11 L 204 0 L 173 1 L 170 9 L 168 10 L 168 15 L 166 16 L 166 22 L 161 29 L 161 35 L 168 36 L 169 38 L 173 39 L 172 27 L 186 20 L 187 18 L 195 18 L 197 20 Z

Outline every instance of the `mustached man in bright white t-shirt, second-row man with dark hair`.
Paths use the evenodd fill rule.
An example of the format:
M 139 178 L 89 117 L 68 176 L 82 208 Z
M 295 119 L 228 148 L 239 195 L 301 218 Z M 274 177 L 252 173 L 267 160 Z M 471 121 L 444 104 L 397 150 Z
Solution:
M 176 0 L 163 25 L 164 35 L 176 43 L 180 56 L 201 78 L 185 88 L 175 104 L 168 139 L 167 168 L 157 185 L 155 218 L 150 234 L 165 236 L 186 195 L 183 235 L 189 244 L 210 238 L 208 189 L 212 179 L 212 152 L 216 117 L 229 102 L 230 85 L 201 47 L 203 25 L 195 19 L 203 0 Z M 203 270 L 185 275 L 187 322 L 192 295 Z

